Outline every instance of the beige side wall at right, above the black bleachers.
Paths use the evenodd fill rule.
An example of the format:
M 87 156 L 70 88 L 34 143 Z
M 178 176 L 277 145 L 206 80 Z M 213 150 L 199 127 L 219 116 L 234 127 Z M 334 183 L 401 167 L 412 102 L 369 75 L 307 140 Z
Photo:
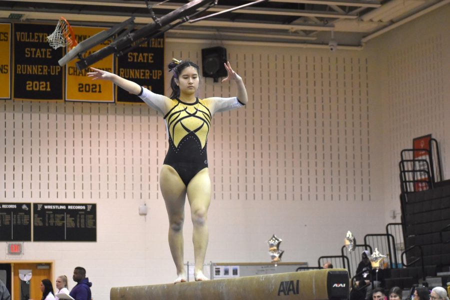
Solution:
M 387 32 L 366 47 L 378 77 L 373 90 L 379 99 L 379 140 L 386 220 L 391 209 L 400 211 L 400 151 L 412 148 L 412 139 L 431 133 L 438 141 L 442 177 L 450 178 L 450 5 L 446 4 L 406 25 Z

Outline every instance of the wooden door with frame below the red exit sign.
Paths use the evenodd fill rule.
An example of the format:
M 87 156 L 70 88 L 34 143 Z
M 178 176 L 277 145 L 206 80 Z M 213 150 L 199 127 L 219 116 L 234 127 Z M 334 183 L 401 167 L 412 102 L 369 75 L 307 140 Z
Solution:
M 21 297 L 21 291 L 20 291 L 20 287 L 21 287 L 21 281 L 19 278 L 19 270 L 22 269 L 28 269 L 31 270 L 31 279 L 29 280 L 29 298 L 30 299 L 34 299 L 34 300 L 39 300 L 40 298 L 42 298 L 42 292 L 40 291 L 40 281 L 42 279 L 49 279 L 52 283 L 52 285 L 54 285 L 54 280 L 51 277 L 51 263 L 45 263 L 46 265 L 48 265 L 48 268 L 37 268 L 37 265 L 43 265 L 42 263 L 31 263 L 31 262 L 27 262 L 27 263 L 18 263 L 18 262 L 13 262 L 11 263 L 12 265 L 12 292 L 13 292 L 13 299 L 14 300 L 22 300 L 23 298 Z M 26 299 L 28 300 L 28 299 Z

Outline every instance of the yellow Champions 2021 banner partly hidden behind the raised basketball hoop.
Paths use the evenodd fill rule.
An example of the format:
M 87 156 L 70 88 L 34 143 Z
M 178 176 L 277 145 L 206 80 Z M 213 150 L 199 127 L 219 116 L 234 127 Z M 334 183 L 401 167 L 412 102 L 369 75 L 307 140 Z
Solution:
M 90 36 L 105 30 L 107 28 L 101 27 L 83 27 L 72 26 L 75 33 L 75 39 L 78 43 Z M 83 57 L 90 55 L 91 53 L 103 48 L 111 43 L 111 39 L 95 45 L 90 50 L 83 54 Z M 67 63 L 66 81 L 65 81 L 65 100 L 66 101 L 88 101 L 88 102 L 114 102 L 113 84 L 111 81 L 106 80 L 92 80 L 87 77 L 89 68 L 78 70 L 76 68 L 76 61 L 73 59 Z M 112 54 L 97 61 L 94 65 L 95 68 L 112 72 L 113 56 Z

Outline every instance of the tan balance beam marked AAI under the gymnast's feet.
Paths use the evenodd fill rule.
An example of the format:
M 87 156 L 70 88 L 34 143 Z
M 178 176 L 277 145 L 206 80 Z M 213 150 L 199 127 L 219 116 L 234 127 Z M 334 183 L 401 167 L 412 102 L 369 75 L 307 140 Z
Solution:
M 346 269 L 320 269 L 181 283 L 112 287 L 110 300 L 348 299 Z

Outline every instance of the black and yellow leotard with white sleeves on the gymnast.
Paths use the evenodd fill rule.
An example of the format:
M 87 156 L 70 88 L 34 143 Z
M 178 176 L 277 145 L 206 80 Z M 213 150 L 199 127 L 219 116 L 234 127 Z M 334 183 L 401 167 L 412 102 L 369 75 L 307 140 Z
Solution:
M 196 98 L 194 103 L 185 103 L 146 88 L 139 97 L 164 115 L 169 143 L 164 164 L 173 167 L 186 186 L 208 166 L 206 145 L 212 115 L 243 106 L 236 97 Z

